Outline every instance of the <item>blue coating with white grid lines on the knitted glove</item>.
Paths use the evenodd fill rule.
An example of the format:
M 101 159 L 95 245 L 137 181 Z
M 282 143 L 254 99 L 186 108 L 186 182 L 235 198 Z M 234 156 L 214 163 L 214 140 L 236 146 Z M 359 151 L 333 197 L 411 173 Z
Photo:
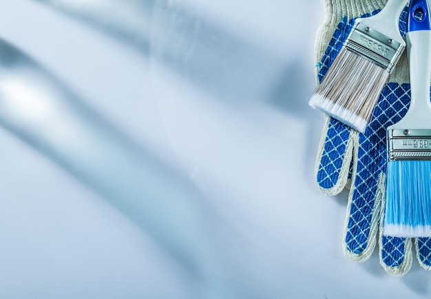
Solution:
M 375 14 L 378 10 L 372 12 Z M 406 34 L 407 11 L 401 14 L 399 28 L 401 34 Z M 365 14 L 362 17 L 368 17 Z M 339 50 L 348 37 L 355 19 L 344 17 L 337 25 L 333 38 L 328 44 L 322 60 L 317 64 L 318 79 L 322 81 L 324 75 L 332 65 Z M 406 114 L 410 104 L 410 84 L 388 83 L 383 88 L 377 107 L 370 124 L 364 134 L 359 134 L 357 147 L 357 174 L 353 185 L 353 203 L 350 207 L 348 219 L 346 248 L 353 254 L 364 252 L 369 243 L 372 213 L 375 209 L 375 196 L 379 174 L 386 173 L 386 127 L 396 123 Z M 324 151 L 317 171 L 317 183 L 324 189 L 334 187 L 338 180 L 341 165 L 346 154 L 346 145 L 350 136 L 350 128 L 330 118 Z M 404 260 L 404 238 L 382 237 L 381 258 L 389 267 L 397 267 Z M 419 258 L 424 265 L 431 266 L 431 240 L 418 240 Z

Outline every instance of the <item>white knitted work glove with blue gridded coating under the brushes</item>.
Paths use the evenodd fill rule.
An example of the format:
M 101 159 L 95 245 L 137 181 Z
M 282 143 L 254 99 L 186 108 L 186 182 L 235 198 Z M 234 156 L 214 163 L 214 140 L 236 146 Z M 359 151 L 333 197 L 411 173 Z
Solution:
M 322 81 L 346 40 L 357 17 L 368 17 L 387 0 L 322 0 L 326 19 L 317 33 L 315 61 L 317 83 Z M 405 36 L 407 11 L 399 28 Z M 386 185 L 386 127 L 401 119 L 410 105 L 406 51 L 383 88 L 364 134 L 326 116 L 317 154 L 317 183 L 325 194 L 350 189 L 344 251 L 351 260 L 367 260 L 379 238 L 380 263 L 389 273 L 406 274 L 412 265 L 412 245 L 421 267 L 431 269 L 430 238 L 383 236 Z

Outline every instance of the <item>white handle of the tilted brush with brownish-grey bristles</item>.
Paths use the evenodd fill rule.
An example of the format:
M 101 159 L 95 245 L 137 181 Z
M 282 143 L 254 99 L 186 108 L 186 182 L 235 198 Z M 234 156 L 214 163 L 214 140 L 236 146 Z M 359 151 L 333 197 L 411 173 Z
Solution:
M 406 7 L 407 2 L 408 0 L 389 0 L 381 12 L 372 17 L 357 19 L 357 22 L 360 21 L 402 45 L 406 45 L 399 33 L 399 15 Z

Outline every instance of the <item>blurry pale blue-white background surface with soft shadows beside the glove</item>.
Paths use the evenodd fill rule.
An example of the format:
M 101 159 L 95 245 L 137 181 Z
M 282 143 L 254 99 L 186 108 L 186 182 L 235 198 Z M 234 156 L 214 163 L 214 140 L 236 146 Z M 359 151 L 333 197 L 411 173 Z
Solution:
M 101 2 L 0 0 L 0 53 L 10 45 L 34 62 L 19 70 L 61 86 L 46 99 L 62 108 L 49 111 L 75 115 L 63 107 L 73 94 L 70 107 L 85 106 L 76 119 L 89 121 L 52 118 L 39 130 L 41 85 L 25 93 L 28 72 L 17 72 L 10 96 L 23 102 L 4 104 L 1 79 L 12 75 L 0 63 L 0 106 L 11 107 L 0 113 L 0 298 L 431 295 L 416 261 L 395 278 L 377 252 L 348 260 L 347 194 L 314 183 L 324 118 L 307 102 L 320 1 Z M 31 136 L 5 125 L 15 113 Z M 49 132 L 65 156 L 47 150 L 43 140 L 58 141 Z M 92 165 L 106 147 L 107 163 Z

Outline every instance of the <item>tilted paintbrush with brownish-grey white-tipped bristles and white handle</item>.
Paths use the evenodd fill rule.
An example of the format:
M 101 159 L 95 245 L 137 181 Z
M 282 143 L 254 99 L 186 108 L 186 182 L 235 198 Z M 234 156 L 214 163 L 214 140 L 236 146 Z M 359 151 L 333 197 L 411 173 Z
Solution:
M 355 20 L 309 105 L 364 132 L 388 76 L 406 43 L 399 16 L 408 0 L 389 0 L 372 17 Z

